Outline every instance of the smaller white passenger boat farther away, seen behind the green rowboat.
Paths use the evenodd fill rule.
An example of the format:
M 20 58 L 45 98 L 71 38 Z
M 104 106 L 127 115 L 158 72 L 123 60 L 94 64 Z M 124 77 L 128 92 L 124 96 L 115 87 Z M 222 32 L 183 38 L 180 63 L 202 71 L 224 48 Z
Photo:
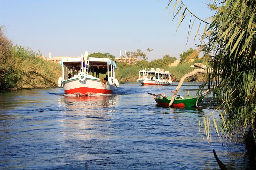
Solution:
M 171 73 L 164 69 L 152 68 L 151 70 L 140 70 L 139 79 L 142 85 L 171 85 L 173 81 Z

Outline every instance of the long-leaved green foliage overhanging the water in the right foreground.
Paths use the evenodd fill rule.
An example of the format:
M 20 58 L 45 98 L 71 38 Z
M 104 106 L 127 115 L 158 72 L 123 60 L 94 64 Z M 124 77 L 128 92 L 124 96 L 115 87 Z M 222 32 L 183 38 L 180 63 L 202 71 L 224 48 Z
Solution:
M 177 14 L 181 8 L 185 8 L 184 11 L 188 10 L 180 0 L 170 0 L 167 7 L 172 2 L 174 3 L 173 9 L 175 10 L 176 7 L 179 9 Z M 208 84 L 209 90 L 213 92 L 213 97 L 222 101 L 218 107 L 221 115 L 220 129 L 212 115 L 214 126 L 218 135 L 220 131 L 222 135 L 227 136 L 244 133 L 246 128 L 255 130 L 256 1 L 220 0 L 218 3 L 214 1 L 208 7 L 216 11 L 215 15 L 211 17 L 211 23 L 196 17 L 189 10 L 188 12 L 191 14 L 191 18 L 201 21 L 199 27 L 202 22 L 205 23 L 201 47 L 204 47 L 204 56 L 212 58 L 209 60 L 208 66 L 212 67 L 213 72 L 209 74 L 208 81 L 201 86 L 201 90 Z M 181 22 L 185 16 L 181 15 Z M 188 37 L 194 22 L 192 26 L 190 24 L 191 19 Z M 204 118 L 204 122 L 206 122 L 206 118 Z M 206 134 L 208 131 L 206 129 L 209 129 L 207 124 L 204 123 Z

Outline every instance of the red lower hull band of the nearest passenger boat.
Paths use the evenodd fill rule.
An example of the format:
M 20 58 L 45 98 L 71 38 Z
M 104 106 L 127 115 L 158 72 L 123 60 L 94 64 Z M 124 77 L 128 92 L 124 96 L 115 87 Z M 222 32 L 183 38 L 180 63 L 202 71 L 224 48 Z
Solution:
M 112 94 L 113 90 L 103 90 L 103 89 L 95 89 L 89 87 L 79 87 L 75 89 L 65 90 L 66 94 L 82 94 L 82 95 L 90 95 L 92 93 L 103 93 L 103 94 Z

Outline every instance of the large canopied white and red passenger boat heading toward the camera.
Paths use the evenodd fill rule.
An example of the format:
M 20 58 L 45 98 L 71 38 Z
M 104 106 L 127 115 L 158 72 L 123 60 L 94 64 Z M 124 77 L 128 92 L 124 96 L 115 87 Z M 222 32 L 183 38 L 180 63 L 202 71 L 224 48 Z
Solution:
M 61 61 L 62 78 L 58 86 L 63 86 L 66 94 L 92 95 L 95 93 L 112 94 L 119 83 L 115 78 L 116 62 L 108 58 L 84 56 L 67 58 Z M 68 78 L 68 73 L 71 78 Z M 99 78 L 99 73 L 108 75 L 108 81 Z

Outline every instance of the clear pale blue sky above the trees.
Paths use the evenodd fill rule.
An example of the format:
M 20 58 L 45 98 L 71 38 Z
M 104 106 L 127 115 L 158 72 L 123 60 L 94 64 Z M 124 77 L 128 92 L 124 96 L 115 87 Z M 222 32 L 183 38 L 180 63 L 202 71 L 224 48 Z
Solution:
M 183 2 L 202 19 L 213 14 L 205 1 Z M 175 33 L 179 17 L 173 22 L 173 13 L 168 17 L 172 6 L 164 12 L 167 0 L 0 0 L 0 4 L 0 25 L 6 26 L 5 34 L 13 44 L 40 49 L 47 57 L 48 52 L 78 56 L 84 51 L 118 57 L 120 49 L 124 54 L 124 50 L 153 48 L 146 53 L 151 61 L 166 54 L 179 58 L 182 51 L 196 46 L 193 41 L 199 22 L 186 45 L 190 16 Z

